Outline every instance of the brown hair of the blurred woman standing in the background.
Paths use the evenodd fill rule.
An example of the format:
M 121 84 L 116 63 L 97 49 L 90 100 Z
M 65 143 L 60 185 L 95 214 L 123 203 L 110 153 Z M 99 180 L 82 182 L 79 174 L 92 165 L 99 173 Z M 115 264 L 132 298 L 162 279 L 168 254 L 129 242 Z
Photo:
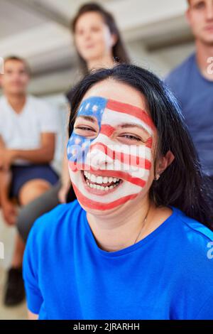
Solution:
M 93 2 L 89 2 L 88 4 L 84 4 L 80 7 L 79 11 L 77 12 L 75 18 L 72 20 L 71 28 L 72 33 L 75 33 L 76 23 L 80 16 L 85 13 L 89 13 L 90 11 L 95 11 L 99 13 L 104 23 L 107 24 L 109 27 L 109 31 L 111 34 L 114 34 L 116 36 L 116 43 L 112 48 L 112 54 L 113 58 L 117 63 L 129 63 L 129 56 L 126 53 L 126 49 L 124 48 L 124 43 L 121 40 L 121 35 L 119 33 L 119 28 L 116 26 L 116 22 L 114 20 L 114 17 L 109 13 L 109 11 L 106 11 L 102 6 L 99 4 L 95 4 Z M 82 72 L 84 75 L 88 73 L 87 69 L 87 63 L 85 60 L 81 57 L 81 55 L 78 53 L 79 59 L 80 59 L 80 66 L 82 68 Z

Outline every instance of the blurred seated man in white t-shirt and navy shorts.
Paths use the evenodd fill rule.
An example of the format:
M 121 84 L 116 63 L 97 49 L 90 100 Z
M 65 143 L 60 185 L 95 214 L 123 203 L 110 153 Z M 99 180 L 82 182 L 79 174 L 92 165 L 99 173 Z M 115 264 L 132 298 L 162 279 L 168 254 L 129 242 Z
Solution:
M 56 114 L 40 99 L 27 95 L 29 68 L 25 60 L 4 60 L 0 85 L 0 203 L 4 219 L 16 224 L 16 206 L 26 205 L 58 181 L 50 166 L 58 132 Z M 4 303 L 16 305 L 24 298 L 22 257 L 24 245 L 16 236 Z

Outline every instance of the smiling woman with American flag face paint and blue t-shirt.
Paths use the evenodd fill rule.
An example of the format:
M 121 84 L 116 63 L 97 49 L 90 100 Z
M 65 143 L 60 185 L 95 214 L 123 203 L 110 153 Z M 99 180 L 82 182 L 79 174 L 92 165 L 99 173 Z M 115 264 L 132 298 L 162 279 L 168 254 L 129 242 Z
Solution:
M 29 311 L 213 318 L 210 193 L 173 95 L 151 72 L 118 65 L 84 77 L 73 112 L 67 156 L 77 200 L 40 217 L 28 237 Z

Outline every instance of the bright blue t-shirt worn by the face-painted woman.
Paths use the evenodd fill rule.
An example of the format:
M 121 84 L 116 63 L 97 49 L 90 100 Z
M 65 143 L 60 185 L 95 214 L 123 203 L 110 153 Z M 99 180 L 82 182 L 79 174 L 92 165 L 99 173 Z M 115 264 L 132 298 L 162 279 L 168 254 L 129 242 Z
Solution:
M 150 235 L 100 249 L 75 200 L 40 217 L 23 278 L 39 319 L 213 319 L 213 232 L 173 209 Z

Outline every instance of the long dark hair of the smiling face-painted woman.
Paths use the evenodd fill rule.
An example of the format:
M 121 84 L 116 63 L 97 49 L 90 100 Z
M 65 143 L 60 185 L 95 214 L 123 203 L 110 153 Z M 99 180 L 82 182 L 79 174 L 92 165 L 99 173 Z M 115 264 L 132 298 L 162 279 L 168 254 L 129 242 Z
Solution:
M 165 156 L 168 151 L 175 156 L 160 179 L 153 181 L 150 196 L 155 205 L 173 205 L 210 227 L 213 217 L 212 190 L 202 174 L 195 146 L 175 97 L 153 73 L 135 65 L 121 64 L 84 77 L 72 91 L 69 134 L 72 133 L 77 109 L 87 90 L 97 82 L 110 78 L 135 88 L 146 98 L 158 135 L 155 160 L 160 155 Z

